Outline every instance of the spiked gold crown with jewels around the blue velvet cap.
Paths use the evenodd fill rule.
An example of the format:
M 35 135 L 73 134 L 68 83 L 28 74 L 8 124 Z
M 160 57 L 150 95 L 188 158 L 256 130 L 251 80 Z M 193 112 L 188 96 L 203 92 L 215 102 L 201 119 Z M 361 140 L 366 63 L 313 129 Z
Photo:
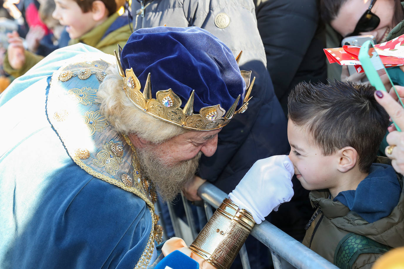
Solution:
M 118 45 L 119 55 L 121 54 L 122 48 Z M 252 86 L 254 85 L 255 77 L 250 83 L 251 71 L 240 71 L 248 89 L 243 100 L 243 104 L 236 111 L 237 104 L 240 100 L 240 95 L 237 97 L 236 101 L 231 105 L 229 110 L 226 111 L 217 104 L 215 106 L 206 106 L 200 109 L 199 114 L 194 114 L 194 92 L 192 91 L 191 96 L 184 108 L 181 106 L 181 98 L 173 92 L 173 90 L 160 90 L 156 93 L 156 99 L 151 98 L 151 82 L 150 73 L 147 75 L 147 80 L 143 93 L 140 91 L 141 85 L 139 79 L 137 79 L 133 69 L 126 69 L 125 73 L 122 69 L 120 63 L 120 57 L 114 50 L 116 57 L 116 64 L 118 65 L 118 71 L 124 80 L 124 86 L 122 89 L 125 91 L 128 98 L 141 110 L 148 113 L 149 115 L 166 121 L 168 123 L 183 127 L 185 129 L 192 129 L 198 131 L 210 131 L 215 129 L 221 129 L 236 115 L 237 113 L 244 113 L 247 110 L 248 101 L 252 98 L 250 97 Z M 237 63 L 240 60 L 242 52 L 236 57 Z

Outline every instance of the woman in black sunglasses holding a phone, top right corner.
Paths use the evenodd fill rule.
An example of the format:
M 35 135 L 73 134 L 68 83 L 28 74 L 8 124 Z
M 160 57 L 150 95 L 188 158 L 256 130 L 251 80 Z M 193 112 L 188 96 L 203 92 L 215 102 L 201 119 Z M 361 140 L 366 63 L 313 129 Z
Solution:
M 400 0 L 320 0 L 320 14 L 341 37 L 373 35 L 380 44 L 404 33 L 403 5 Z M 347 68 L 343 67 L 341 80 L 360 83 L 365 77 L 364 73 L 348 76 Z M 404 83 L 404 78 L 394 82 L 404 85 L 401 81 Z

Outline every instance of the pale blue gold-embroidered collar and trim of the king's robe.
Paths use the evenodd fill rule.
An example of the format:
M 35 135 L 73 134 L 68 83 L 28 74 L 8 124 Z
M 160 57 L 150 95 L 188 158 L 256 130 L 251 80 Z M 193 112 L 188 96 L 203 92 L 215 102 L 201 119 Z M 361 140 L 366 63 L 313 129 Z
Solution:
M 135 268 L 146 268 L 155 244 L 154 204 L 149 192 L 143 188 L 130 145 L 99 111 L 96 98 L 99 74 L 105 74 L 109 63 L 115 60 L 111 55 L 102 54 L 101 57 L 99 53 L 77 55 L 53 73 L 46 113 L 67 153 L 78 166 L 146 202 L 152 227 L 147 246 L 135 265 Z

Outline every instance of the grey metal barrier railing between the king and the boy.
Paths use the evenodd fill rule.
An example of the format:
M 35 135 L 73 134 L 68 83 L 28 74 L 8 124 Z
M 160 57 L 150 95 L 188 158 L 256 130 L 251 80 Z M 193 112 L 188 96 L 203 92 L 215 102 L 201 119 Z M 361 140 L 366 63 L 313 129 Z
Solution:
M 217 208 L 223 199 L 227 198 L 225 192 L 207 182 L 200 186 L 198 194 L 204 200 L 206 219 L 210 219 L 213 215 L 211 206 Z M 184 196 L 182 198 L 188 226 L 194 239 L 198 235 L 194 215 L 192 214 L 190 202 Z M 170 212 L 175 236 L 182 238 L 183 234 L 178 224 L 178 217 L 175 216 L 173 212 L 173 206 L 168 205 L 168 210 Z M 200 210 L 202 210 L 202 208 Z M 310 250 L 268 221 L 263 221 L 261 224 L 255 225 L 254 229 L 251 231 L 251 235 L 269 248 L 275 269 L 282 269 L 282 259 L 298 269 L 338 269 L 338 267 L 322 256 Z M 239 254 L 242 267 L 244 269 L 250 269 L 245 245 L 243 245 Z

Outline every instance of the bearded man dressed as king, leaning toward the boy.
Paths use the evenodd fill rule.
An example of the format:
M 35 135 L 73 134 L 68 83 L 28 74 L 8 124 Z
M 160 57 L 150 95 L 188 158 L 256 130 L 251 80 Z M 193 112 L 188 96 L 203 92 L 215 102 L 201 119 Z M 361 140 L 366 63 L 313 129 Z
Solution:
M 158 194 L 173 200 L 201 154 L 215 152 L 217 133 L 248 108 L 254 79 L 237 62 L 198 27 L 155 27 L 134 32 L 115 57 L 77 44 L 16 79 L 0 96 L 1 267 L 154 267 Z M 267 180 L 277 165 L 285 171 L 270 161 L 271 171 L 247 173 L 242 184 L 277 188 L 255 203 L 240 188 L 221 207 L 233 232 L 218 240 L 230 252 L 293 194 L 292 175 Z M 190 249 L 228 267 L 226 251 L 204 249 L 212 229 Z

